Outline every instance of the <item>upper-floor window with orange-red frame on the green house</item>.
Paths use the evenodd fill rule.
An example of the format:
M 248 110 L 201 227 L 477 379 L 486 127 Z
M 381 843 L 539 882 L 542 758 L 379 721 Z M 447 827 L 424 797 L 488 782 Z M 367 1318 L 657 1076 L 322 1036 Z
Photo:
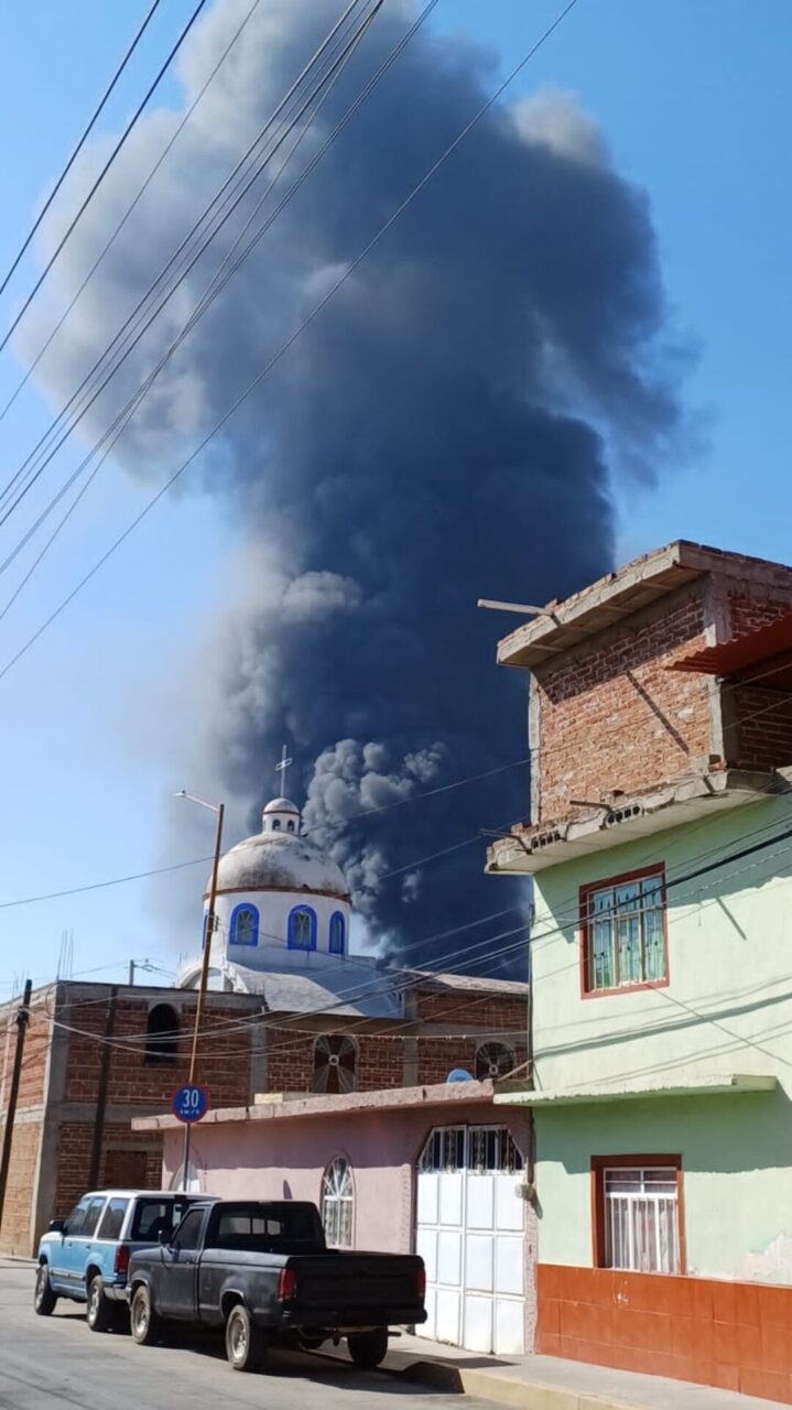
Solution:
M 581 931 L 588 994 L 664 983 L 668 979 L 664 867 L 583 887 Z

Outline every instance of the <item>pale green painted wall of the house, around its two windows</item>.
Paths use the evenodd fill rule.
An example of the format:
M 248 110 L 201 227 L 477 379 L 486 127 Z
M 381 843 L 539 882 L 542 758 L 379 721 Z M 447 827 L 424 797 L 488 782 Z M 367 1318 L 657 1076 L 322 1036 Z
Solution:
M 581 995 L 582 884 L 654 862 L 672 881 L 792 826 L 786 798 L 716 808 L 537 876 L 537 1086 L 640 1089 L 729 1072 L 771 1073 L 778 1090 L 538 1108 L 543 1263 L 590 1266 L 592 1155 L 678 1153 L 689 1272 L 792 1283 L 792 843 L 671 885 L 668 987 Z

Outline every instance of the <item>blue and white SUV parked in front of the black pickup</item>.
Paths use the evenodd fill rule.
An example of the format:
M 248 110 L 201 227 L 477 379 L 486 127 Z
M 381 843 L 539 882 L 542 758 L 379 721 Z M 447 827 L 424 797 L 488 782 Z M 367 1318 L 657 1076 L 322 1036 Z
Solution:
M 168 1244 L 200 1196 L 171 1190 L 96 1190 L 66 1220 L 52 1220 L 38 1245 L 34 1308 L 49 1317 L 59 1297 L 87 1303 L 92 1331 L 127 1314 L 127 1272 L 137 1249 Z

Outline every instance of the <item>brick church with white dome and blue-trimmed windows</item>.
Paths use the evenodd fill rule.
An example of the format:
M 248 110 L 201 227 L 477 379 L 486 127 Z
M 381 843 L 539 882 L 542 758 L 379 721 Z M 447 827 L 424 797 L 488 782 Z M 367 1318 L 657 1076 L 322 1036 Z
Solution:
M 527 986 L 349 953 L 345 878 L 286 798 L 221 857 L 214 914 L 197 1062 L 213 1110 L 428 1087 L 454 1069 L 486 1081 L 526 1062 Z M 140 1118 L 186 1080 L 199 973 L 196 955 L 175 987 L 34 993 L 0 1249 L 30 1253 L 86 1189 L 161 1186 L 161 1138 Z M 0 1134 L 17 1008 L 0 1008 Z M 206 1187 L 200 1162 L 187 1176 Z

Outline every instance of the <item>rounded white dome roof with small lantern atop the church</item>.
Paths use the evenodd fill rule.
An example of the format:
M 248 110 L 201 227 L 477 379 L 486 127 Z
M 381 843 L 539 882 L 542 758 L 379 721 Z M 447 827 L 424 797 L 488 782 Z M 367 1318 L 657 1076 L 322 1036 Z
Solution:
M 262 830 L 220 859 L 217 890 L 316 893 L 348 900 L 341 867 L 299 835 L 299 819 L 300 809 L 287 798 L 268 802 Z

